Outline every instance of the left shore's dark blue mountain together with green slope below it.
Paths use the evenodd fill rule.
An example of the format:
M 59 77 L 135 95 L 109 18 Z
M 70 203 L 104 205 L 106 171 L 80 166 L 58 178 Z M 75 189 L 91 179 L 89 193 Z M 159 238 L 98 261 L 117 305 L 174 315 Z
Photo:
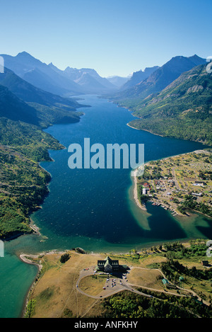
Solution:
M 32 232 L 29 214 L 47 195 L 50 180 L 37 162 L 51 161 L 48 150 L 63 148 L 42 127 L 80 118 L 73 108 L 78 103 L 35 88 L 6 68 L 0 80 L 0 238 L 8 239 Z

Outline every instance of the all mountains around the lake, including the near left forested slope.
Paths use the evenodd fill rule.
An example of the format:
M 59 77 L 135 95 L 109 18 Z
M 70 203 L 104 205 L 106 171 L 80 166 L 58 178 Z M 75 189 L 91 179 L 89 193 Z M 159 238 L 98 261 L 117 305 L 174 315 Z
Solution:
M 3 57 L 0 236 L 4 238 L 31 231 L 29 213 L 47 195 L 49 181 L 49 174 L 37 162 L 51 160 L 49 149 L 64 148 L 43 128 L 78 122 L 83 114 L 80 108 L 86 105 L 76 100 L 83 99 L 84 93 L 110 96 L 114 103 L 129 108 L 136 117 L 129 125 L 136 129 L 212 144 L 211 74 L 206 60 L 197 55 L 173 57 L 162 67 L 107 79 L 95 69 L 67 67 L 63 71 L 26 52 Z

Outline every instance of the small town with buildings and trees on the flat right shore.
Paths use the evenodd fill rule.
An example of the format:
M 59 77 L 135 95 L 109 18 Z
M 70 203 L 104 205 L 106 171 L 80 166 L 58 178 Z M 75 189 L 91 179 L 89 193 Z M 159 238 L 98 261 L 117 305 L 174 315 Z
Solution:
M 160 205 L 173 216 L 189 215 L 191 209 L 211 217 L 211 156 L 211 151 L 198 150 L 148 162 L 137 181 L 139 200 Z

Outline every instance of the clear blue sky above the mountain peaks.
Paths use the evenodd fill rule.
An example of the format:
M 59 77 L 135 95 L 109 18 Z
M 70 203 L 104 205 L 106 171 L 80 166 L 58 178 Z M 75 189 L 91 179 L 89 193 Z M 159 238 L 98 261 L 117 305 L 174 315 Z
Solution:
M 127 76 L 176 55 L 212 55 L 211 0 L 1 1 L 0 54 Z

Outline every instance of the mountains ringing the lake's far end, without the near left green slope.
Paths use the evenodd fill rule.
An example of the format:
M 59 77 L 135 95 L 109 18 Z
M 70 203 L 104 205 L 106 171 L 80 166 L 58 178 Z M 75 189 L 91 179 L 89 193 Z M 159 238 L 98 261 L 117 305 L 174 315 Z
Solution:
M 78 121 L 81 113 L 76 113 L 76 109 L 82 105 L 70 98 L 70 94 L 73 89 L 82 89 L 83 93 L 88 93 L 89 87 L 89 93 L 97 94 L 102 91 L 103 97 L 108 97 L 108 93 L 111 93 L 112 101 L 132 110 L 136 117 L 142 119 L 131 122 L 137 129 L 211 142 L 208 128 L 211 124 L 211 108 L 208 106 L 211 101 L 211 85 L 208 84 L 208 79 L 211 76 L 204 74 L 206 59 L 197 55 L 172 57 L 161 67 L 148 67 L 127 78 L 114 76 L 119 82 L 116 88 L 95 69 L 66 67 L 63 71 L 52 63 L 40 62 L 26 52 L 19 53 L 16 57 L 3 56 L 5 66 L 10 69 L 6 67 L 4 74 L 0 75 L 1 117 L 6 116 L 10 120 L 25 121 L 40 127 L 63 121 Z M 195 70 L 201 79 L 198 84 L 194 82 Z M 36 81 L 37 73 L 40 76 Z M 29 78 L 36 81 L 36 84 L 30 83 Z M 58 93 L 41 88 L 48 85 L 48 81 L 51 81 L 49 90 L 54 86 Z M 83 93 L 78 92 L 78 95 Z M 195 118 L 196 123 L 204 129 L 196 127 L 194 133 L 190 127 L 189 133 L 186 126 L 191 118 Z M 172 121 L 165 127 L 167 119 Z M 205 120 L 207 123 L 204 123 Z M 179 128 L 175 130 L 172 123 L 173 126 L 175 124 L 185 128 L 184 132 Z

